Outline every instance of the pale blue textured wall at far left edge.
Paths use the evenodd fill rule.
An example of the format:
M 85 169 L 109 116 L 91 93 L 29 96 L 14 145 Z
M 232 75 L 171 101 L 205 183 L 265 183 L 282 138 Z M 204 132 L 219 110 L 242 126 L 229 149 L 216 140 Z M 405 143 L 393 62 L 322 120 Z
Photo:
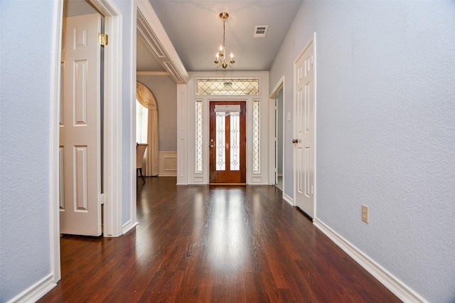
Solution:
M 0 302 L 5 302 L 50 273 L 54 4 L 2 0 L 0 6 Z M 39 31 L 18 34 L 29 33 L 31 24 Z

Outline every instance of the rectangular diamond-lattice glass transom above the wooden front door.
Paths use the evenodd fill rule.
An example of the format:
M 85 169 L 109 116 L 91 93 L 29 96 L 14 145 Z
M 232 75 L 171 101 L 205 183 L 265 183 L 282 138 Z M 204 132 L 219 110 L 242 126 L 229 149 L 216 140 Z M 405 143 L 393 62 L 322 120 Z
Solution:
M 214 95 L 258 95 L 259 79 L 198 79 L 196 94 Z

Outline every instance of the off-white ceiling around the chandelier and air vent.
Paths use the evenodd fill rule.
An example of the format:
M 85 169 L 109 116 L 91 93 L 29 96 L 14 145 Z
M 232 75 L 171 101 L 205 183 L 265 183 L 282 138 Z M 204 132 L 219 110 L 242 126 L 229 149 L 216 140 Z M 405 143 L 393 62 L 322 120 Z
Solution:
M 270 70 L 302 0 L 187 1 L 149 0 L 188 72 L 215 71 L 215 53 L 223 42 L 226 11 L 226 52 L 234 53 L 233 71 Z M 269 26 L 265 38 L 253 38 L 255 26 Z M 162 71 L 138 38 L 137 70 Z

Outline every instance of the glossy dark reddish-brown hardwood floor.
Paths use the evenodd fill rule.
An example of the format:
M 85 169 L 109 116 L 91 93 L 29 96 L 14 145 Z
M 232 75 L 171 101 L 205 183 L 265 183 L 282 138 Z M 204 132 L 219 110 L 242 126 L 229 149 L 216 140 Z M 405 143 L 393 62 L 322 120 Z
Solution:
M 139 180 L 139 225 L 63 236 L 39 302 L 400 302 L 272 186 Z

